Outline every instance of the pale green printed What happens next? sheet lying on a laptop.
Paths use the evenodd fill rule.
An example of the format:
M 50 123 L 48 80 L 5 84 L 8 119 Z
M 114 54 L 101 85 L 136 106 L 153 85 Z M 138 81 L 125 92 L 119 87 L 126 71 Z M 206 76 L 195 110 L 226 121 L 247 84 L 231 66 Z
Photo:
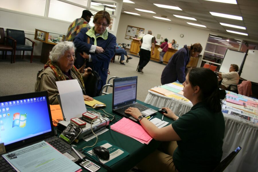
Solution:
M 81 169 L 45 141 L 4 154 L 3 157 L 21 172 L 73 172 Z

